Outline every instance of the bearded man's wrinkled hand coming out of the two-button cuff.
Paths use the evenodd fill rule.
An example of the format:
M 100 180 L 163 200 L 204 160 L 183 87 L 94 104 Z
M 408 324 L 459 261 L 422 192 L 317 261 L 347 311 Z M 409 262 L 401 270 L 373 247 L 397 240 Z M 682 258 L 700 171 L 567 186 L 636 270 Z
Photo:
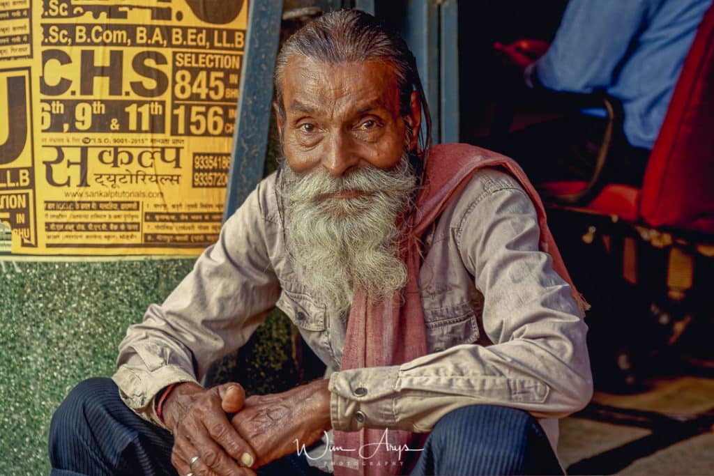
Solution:
M 316 380 L 284 393 L 248 397 L 231 422 L 251 443 L 255 467 L 311 445 L 331 428 L 328 380 Z

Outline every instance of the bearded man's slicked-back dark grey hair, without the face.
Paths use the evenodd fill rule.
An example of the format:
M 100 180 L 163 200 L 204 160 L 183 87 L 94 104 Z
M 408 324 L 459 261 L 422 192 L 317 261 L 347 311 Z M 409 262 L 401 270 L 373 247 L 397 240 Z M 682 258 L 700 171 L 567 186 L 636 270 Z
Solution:
M 275 66 L 275 90 L 278 113 L 285 118 L 283 103 L 283 71 L 294 54 L 326 64 L 383 61 L 396 74 L 400 91 L 401 115 L 411 112 L 411 93 L 416 91 L 421 103 L 424 128 L 418 131 L 418 143 L 425 153 L 431 145 L 431 116 L 424 88 L 416 69 L 416 59 L 406 41 L 370 14 L 360 10 L 332 11 L 306 24 L 291 36 L 278 54 Z M 409 133 L 414 131 L 409 130 Z

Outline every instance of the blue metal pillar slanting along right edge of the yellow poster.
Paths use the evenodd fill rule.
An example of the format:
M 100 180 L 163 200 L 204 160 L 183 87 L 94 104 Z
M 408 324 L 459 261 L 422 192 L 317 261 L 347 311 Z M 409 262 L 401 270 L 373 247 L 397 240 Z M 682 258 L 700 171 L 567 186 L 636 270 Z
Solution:
M 263 178 L 283 0 L 251 0 L 223 221 Z

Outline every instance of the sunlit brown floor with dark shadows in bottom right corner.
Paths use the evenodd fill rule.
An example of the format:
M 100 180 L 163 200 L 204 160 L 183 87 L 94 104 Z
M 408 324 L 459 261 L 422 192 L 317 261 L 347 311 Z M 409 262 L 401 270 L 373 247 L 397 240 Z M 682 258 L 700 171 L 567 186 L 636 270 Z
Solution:
M 634 395 L 596 392 L 560 422 L 571 475 L 714 475 L 714 380 L 660 377 Z

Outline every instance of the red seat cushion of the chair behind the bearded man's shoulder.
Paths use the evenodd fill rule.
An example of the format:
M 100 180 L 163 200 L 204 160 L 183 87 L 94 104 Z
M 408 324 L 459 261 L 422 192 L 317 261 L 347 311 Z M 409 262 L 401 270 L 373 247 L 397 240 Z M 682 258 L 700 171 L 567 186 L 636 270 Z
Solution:
M 548 196 L 563 196 L 578 193 L 585 187 L 583 181 L 560 181 L 543 183 L 540 193 L 543 201 L 548 202 Z M 615 215 L 620 220 L 636 222 L 638 220 L 638 200 L 640 191 L 632 186 L 613 183 L 606 185 L 593 201 L 580 207 L 594 213 Z

